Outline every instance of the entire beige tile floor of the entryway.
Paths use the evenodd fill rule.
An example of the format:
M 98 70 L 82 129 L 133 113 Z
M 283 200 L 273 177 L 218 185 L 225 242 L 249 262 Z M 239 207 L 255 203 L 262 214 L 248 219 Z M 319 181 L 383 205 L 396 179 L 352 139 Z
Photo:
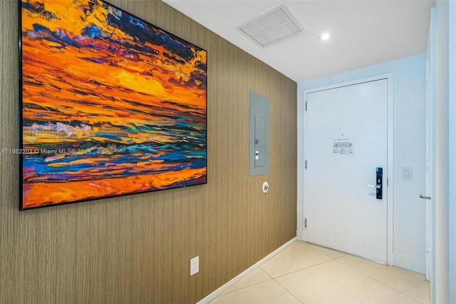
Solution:
M 296 241 L 212 304 L 430 303 L 424 275 Z

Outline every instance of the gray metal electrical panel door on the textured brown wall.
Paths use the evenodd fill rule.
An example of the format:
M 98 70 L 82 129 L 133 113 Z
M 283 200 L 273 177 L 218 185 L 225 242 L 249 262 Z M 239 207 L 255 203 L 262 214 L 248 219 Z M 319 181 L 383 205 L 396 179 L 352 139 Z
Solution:
M 269 173 L 269 98 L 250 92 L 249 173 Z

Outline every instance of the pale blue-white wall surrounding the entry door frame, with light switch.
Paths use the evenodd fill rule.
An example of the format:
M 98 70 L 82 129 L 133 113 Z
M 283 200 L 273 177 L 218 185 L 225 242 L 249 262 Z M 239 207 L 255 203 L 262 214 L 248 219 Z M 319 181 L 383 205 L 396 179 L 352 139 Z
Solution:
M 425 201 L 418 198 L 419 193 L 425 192 L 425 64 L 426 55 L 421 54 L 298 83 L 298 237 L 304 230 L 303 91 L 393 73 L 393 265 L 425 273 Z M 403 167 L 413 168 L 412 181 L 402 180 Z M 418 230 L 410 227 L 418 227 Z

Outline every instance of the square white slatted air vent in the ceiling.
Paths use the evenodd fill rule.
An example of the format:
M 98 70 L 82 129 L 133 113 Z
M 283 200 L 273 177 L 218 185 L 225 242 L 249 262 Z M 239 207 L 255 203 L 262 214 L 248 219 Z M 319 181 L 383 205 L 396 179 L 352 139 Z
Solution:
M 285 4 L 266 11 L 238 29 L 263 48 L 305 31 Z

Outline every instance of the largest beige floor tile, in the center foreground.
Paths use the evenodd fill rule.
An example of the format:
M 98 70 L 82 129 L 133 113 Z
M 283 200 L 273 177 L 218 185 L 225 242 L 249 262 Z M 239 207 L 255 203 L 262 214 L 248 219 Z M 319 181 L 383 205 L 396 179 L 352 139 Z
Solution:
M 419 303 L 337 260 L 276 280 L 302 303 Z

